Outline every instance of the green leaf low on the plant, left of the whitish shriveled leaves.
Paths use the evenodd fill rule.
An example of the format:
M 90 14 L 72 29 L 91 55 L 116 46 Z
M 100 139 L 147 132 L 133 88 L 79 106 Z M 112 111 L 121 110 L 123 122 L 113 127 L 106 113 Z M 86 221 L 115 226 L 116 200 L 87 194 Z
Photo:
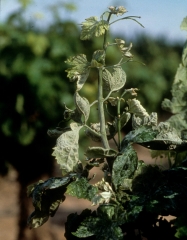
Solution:
M 98 192 L 97 187 L 88 183 L 86 178 L 78 178 L 76 181 L 70 183 L 67 187 L 66 193 L 77 198 L 84 198 L 91 201 L 91 199 Z

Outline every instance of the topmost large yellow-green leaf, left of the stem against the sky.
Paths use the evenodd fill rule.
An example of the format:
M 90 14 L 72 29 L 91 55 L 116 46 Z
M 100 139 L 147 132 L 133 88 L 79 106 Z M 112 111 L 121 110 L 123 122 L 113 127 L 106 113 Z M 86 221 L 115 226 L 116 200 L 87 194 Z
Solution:
M 105 20 L 98 21 L 97 17 L 90 17 L 81 24 L 81 40 L 89 40 L 92 37 L 99 37 L 108 31 L 109 23 Z

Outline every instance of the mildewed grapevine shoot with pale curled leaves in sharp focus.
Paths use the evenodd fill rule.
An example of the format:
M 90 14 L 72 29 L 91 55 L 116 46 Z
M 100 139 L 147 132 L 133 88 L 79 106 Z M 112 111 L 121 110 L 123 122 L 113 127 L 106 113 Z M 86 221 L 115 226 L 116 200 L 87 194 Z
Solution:
M 138 22 L 137 17 L 131 16 L 111 22 L 111 16 L 122 16 L 126 12 L 124 7 L 110 7 L 109 11 L 101 15 L 100 20 L 90 17 L 81 25 L 81 39 L 103 36 L 103 48 L 93 53 L 90 62 L 84 54 L 70 57 L 66 61 L 70 66 L 67 69 L 68 78 L 76 83 L 75 109 L 66 107 L 64 111 L 64 119 L 70 121 L 68 128 L 50 131 L 52 135 L 59 134 L 53 156 L 60 165 L 63 176 L 28 187 L 28 195 L 33 198 L 35 207 L 28 219 L 31 228 L 41 226 L 49 216 L 54 215 L 60 202 L 64 201 L 66 192 L 77 198 L 88 199 L 92 205 L 98 205 L 96 211 L 84 210 L 80 215 L 75 213 L 68 217 L 65 233 L 67 239 L 138 239 L 141 236 L 162 239 L 163 229 L 164 232 L 165 229 L 168 230 L 164 234 L 168 239 L 187 236 L 184 211 L 187 199 L 187 142 L 185 134 L 181 134 L 181 130 L 185 133 L 187 129 L 186 118 L 183 119 L 182 126 L 175 128 L 175 123 L 180 124 L 177 114 L 180 114 L 178 117 L 185 115 L 187 104 L 185 91 L 176 93 L 179 85 L 185 89 L 187 76 L 180 74 L 186 73 L 186 47 L 173 84 L 173 99 L 163 102 L 164 108 L 175 109 L 173 113 L 177 114 L 158 124 L 157 114 L 149 114 L 136 99 L 137 89 L 124 88 L 126 73 L 122 65 L 133 61 L 130 52 L 132 44 L 126 46 L 123 39 L 116 39 L 114 43 L 107 42 L 109 26 L 114 22 L 124 19 Z M 187 28 L 186 19 L 182 27 Z M 107 51 L 115 46 L 119 49 L 121 58 L 117 64 L 107 66 Z M 98 73 L 98 97 L 90 103 L 82 96 L 81 90 L 93 70 Z M 111 106 L 115 112 L 110 111 Z M 97 112 L 99 121 L 89 124 L 92 111 Z M 107 121 L 107 115 L 112 121 Z M 121 129 L 129 121 L 133 130 L 122 140 Z M 81 130 L 93 141 L 102 143 L 102 146 L 98 147 L 97 144 L 87 149 L 85 164 L 79 159 Z M 111 148 L 109 140 L 113 140 L 116 147 Z M 154 150 L 155 156 L 166 151 L 170 168 L 163 170 L 139 161 L 133 143 Z M 171 156 L 174 163 L 171 162 Z M 94 166 L 103 166 L 103 178 L 91 185 L 89 171 Z M 159 215 L 175 216 L 176 219 L 172 222 L 174 226 L 159 218 Z

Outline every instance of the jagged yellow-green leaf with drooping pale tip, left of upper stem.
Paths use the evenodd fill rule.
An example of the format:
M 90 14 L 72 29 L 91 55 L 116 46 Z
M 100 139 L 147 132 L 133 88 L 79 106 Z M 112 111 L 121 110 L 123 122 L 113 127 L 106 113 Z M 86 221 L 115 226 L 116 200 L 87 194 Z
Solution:
M 88 78 L 90 63 L 87 61 L 86 55 L 84 54 L 70 57 L 65 63 L 71 66 L 66 72 L 68 72 L 68 78 L 70 81 L 77 81 L 77 91 L 79 91 Z

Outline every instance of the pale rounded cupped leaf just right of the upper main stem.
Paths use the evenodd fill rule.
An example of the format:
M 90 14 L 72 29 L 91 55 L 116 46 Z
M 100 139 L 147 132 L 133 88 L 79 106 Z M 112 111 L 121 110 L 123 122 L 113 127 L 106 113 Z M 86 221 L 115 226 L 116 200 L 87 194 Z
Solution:
M 107 69 L 104 69 L 103 83 L 106 90 L 112 92 L 118 91 L 126 83 L 126 73 L 121 67 L 113 67 L 112 73 L 110 73 Z

